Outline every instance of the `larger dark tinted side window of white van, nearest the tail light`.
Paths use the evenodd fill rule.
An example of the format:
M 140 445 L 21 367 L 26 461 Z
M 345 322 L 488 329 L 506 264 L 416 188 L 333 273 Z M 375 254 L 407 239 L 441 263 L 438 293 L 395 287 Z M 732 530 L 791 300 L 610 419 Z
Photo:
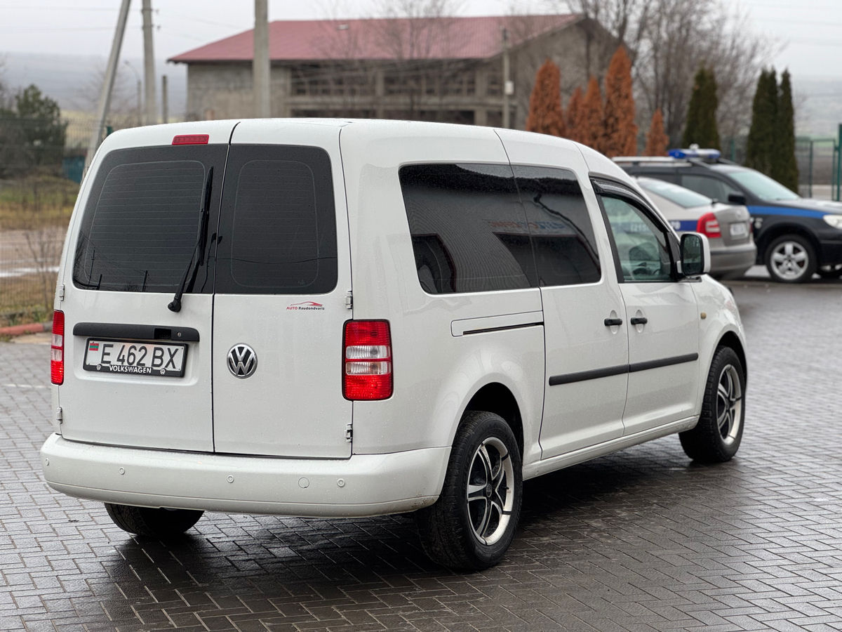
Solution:
M 508 165 L 413 164 L 399 174 L 425 292 L 534 284 L 529 233 Z

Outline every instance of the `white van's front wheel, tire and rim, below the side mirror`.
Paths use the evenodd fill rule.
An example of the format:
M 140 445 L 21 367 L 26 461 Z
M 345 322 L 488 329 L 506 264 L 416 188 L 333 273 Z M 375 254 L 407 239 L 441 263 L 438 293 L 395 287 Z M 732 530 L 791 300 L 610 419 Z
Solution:
M 699 463 L 731 460 L 743 440 L 744 398 L 743 363 L 730 347 L 718 347 L 707 374 L 699 422 L 679 433 L 685 454 Z

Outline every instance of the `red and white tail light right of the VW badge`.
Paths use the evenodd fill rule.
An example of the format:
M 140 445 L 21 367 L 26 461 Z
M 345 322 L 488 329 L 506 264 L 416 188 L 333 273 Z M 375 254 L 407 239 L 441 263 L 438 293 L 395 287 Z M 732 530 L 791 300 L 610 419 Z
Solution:
M 342 394 L 345 399 L 392 397 L 392 334 L 387 320 L 345 323 Z

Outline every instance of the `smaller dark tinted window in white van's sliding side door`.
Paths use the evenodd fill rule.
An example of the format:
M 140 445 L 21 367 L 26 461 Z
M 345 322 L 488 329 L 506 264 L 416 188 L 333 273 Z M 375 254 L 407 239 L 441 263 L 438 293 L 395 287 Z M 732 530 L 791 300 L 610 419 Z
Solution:
M 573 172 L 515 166 L 514 175 L 529 222 L 541 286 L 599 281 L 594 226 Z

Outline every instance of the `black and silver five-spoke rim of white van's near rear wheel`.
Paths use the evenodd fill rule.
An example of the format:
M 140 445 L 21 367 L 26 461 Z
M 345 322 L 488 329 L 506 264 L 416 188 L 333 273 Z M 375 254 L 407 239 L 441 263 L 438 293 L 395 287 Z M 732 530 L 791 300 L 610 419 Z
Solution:
M 483 441 L 471 459 L 466 501 L 468 519 L 482 544 L 494 544 L 506 533 L 514 504 L 514 469 L 504 442 Z

